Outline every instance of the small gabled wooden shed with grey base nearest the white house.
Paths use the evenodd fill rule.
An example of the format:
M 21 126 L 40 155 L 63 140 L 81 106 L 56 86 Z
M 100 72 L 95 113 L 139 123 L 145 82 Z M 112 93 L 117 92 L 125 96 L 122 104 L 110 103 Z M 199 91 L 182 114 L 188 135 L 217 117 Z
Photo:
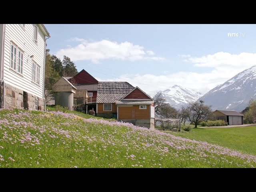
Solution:
M 54 84 L 54 92 L 58 92 L 55 98 L 55 105 L 73 110 L 76 88 L 66 78 L 62 77 Z

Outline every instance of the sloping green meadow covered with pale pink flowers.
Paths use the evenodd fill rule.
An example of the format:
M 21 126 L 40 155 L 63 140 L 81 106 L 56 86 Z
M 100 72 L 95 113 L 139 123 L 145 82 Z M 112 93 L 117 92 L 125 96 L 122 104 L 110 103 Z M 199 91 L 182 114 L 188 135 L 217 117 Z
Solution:
M 129 123 L 0 110 L 0 168 L 254 168 L 256 156 Z

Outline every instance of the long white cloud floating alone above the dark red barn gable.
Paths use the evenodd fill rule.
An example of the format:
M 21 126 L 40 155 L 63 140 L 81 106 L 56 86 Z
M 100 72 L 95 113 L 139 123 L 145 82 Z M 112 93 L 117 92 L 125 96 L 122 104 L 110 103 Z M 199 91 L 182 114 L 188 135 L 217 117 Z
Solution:
M 62 58 L 68 56 L 73 61 L 90 60 L 98 63 L 105 59 L 118 60 L 164 60 L 162 57 L 152 56 L 154 52 L 145 51 L 144 47 L 134 45 L 131 42 L 114 42 L 110 40 L 88 41 L 82 38 L 72 38 L 71 41 L 80 42 L 78 45 L 60 49 L 56 52 L 56 56 Z

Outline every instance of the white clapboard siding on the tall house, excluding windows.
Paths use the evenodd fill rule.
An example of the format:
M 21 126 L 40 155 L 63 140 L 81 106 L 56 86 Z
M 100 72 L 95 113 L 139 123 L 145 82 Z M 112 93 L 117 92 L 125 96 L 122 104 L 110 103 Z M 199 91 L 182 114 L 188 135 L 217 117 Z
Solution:
M 4 42 L 4 81 L 16 88 L 43 98 L 44 72 L 44 34 L 38 27 L 38 43 L 33 40 L 34 24 L 26 24 L 25 30 L 20 24 L 6 24 Z M 23 76 L 10 70 L 11 42 L 24 52 Z M 32 82 L 32 58 L 40 66 L 40 83 Z

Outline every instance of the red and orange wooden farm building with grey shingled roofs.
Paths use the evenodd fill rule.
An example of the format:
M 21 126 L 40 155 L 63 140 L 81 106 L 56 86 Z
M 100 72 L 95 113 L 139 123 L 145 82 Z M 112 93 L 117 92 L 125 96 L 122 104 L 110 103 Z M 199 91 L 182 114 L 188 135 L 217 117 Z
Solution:
M 88 92 L 84 105 L 88 110 L 94 108 L 96 116 L 154 128 L 154 100 L 140 88 L 128 82 L 98 82 L 84 69 L 66 79 L 76 87 L 76 93 Z

